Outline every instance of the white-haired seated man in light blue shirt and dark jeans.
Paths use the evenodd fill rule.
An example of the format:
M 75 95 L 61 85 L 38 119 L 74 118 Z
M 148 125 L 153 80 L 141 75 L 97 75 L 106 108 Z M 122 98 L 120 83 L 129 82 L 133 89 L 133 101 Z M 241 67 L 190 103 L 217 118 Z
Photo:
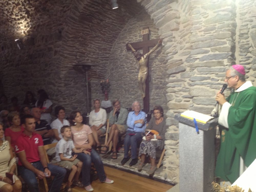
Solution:
M 124 139 L 124 158 L 121 164 L 124 165 L 128 160 L 128 152 L 131 146 L 132 161 L 130 167 L 138 162 L 137 158 L 137 142 L 142 140 L 142 132 L 146 129 L 146 113 L 141 111 L 141 105 L 138 101 L 132 104 L 134 111 L 130 112 L 127 117 L 127 132 Z

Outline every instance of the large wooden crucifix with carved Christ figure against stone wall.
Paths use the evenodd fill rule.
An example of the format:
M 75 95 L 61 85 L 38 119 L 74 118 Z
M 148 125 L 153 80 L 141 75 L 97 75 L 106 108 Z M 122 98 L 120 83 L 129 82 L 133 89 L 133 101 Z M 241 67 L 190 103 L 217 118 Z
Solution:
M 144 27 L 142 30 L 143 41 L 128 43 L 126 44 L 127 50 L 132 50 L 134 57 L 139 61 L 140 71 L 138 74 L 139 88 L 143 98 L 143 108 L 144 112 L 149 112 L 149 56 L 152 54 L 162 43 L 161 39 L 151 39 L 149 40 L 149 28 Z M 153 47 L 149 51 L 149 48 Z M 136 51 L 135 49 L 143 49 L 143 54 Z

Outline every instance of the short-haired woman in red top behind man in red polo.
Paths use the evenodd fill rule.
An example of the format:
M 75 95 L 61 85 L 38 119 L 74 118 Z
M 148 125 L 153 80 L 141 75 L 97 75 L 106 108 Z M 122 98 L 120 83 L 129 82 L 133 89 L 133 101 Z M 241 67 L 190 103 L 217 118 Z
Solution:
M 8 114 L 8 120 L 12 125 L 5 130 L 5 139 L 9 141 L 14 150 L 15 142 L 19 135 L 24 131 L 24 127 L 20 125 L 19 113 L 16 111 Z

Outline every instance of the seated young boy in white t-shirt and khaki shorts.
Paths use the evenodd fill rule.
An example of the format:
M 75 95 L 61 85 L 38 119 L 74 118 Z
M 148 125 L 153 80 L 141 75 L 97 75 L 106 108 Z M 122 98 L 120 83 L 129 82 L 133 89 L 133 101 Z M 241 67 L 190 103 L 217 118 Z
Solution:
M 56 161 L 57 164 L 61 167 L 71 170 L 68 182 L 67 182 L 67 192 L 72 192 L 71 185 L 72 180 L 73 185 L 77 185 L 78 187 L 83 187 L 83 184 L 78 181 L 79 175 L 81 173 L 83 163 L 77 159 L 77 155 L 72 156 L 72 151 L 75 153 L 85 153 L 90 154 L 90 152 L 76 149 L 71 139 L 71 129 L 70 126 L 65 125 L 60 129 L 62 139 L 56 145 Z

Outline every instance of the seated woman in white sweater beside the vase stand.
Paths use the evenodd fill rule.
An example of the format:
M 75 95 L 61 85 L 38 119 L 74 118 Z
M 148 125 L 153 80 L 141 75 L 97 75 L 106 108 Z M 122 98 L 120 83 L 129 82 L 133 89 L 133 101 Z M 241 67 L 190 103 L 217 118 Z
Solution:
M 101 145 L 98 139 L 99 135 L 106 133 L 107 113 L 105 109 L 100 108 L 100 100 L 93 100 L 94 110 L 90 112 L 89 125 L 91 126 L 92 135 L 96 143 L 96 150 L 100 151 Z

